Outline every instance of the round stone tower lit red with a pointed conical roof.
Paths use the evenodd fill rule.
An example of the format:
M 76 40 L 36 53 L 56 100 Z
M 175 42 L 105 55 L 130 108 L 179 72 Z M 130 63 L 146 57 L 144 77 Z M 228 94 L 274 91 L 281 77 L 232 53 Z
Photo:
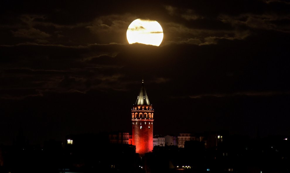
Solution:
M 136 146 L 136 153 L 144 155 L 153 150 L 153 112 L 152 105 L 144 88 L 142 80 L 141 90 L 132 108 L 132 145 Z

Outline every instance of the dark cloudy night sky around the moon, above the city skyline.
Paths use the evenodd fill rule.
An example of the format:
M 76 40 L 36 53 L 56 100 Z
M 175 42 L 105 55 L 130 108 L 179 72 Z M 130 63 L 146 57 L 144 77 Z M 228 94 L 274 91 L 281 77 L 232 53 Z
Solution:
M 129 44 L 137 19 L 159 47 Z M 0 5 L 0 143 L 132 133 L 142 78 L 153 134 L 290 135 L 290 3 L 13 1 Z

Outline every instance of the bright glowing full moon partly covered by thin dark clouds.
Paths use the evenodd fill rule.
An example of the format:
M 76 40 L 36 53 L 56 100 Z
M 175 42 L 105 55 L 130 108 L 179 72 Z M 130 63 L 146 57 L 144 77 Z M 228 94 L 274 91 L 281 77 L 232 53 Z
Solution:
M 134 20 L 128 27 L 129 44 L 142 43 L 159 46 L 163 40 L 163 30 L 156 20 Z

